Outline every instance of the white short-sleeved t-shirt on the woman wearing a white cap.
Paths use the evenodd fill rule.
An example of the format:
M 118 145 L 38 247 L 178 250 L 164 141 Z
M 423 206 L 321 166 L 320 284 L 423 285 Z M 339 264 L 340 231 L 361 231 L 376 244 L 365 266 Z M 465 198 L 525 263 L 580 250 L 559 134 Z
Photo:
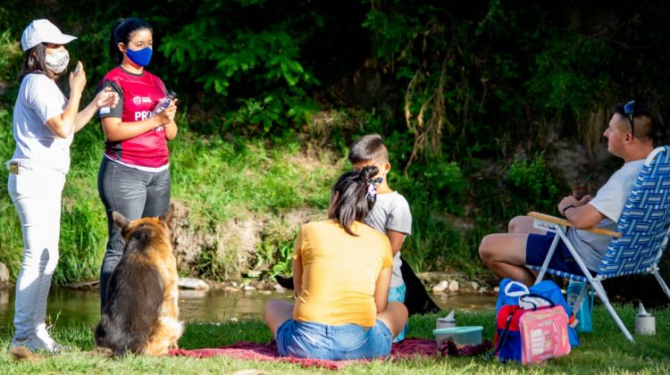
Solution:
M 23 78 L 14 104 L 13 130 L 16 149 L 12 161 L 29 169 L 49 169 L 67 173 L 74 131 L 58 137 L 46 121 L 63 113 L 67 99 L 54 79 L 31 73 Z

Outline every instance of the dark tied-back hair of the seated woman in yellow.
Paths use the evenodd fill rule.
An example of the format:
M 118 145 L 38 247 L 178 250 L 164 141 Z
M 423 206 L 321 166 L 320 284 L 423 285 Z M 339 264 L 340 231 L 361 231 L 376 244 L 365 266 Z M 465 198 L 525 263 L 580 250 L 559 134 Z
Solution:
M 351 230 L 354 221 L 363 221 L 373 209 L 377 199 L 377 184 L 381 182 L 374 178 L 378 172 L 379 168 L 374 165 L 360 171 L 348 171 L 332 187 L 328 218 L 338 221 L 351 236 L 357 236 Z

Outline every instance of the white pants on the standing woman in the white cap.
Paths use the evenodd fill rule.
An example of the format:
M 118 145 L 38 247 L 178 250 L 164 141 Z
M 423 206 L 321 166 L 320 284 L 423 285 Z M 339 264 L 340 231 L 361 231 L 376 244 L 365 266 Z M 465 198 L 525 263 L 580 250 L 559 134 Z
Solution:
M 37 335 L 51 341 L 46 332 L 46 298 L 58 263 L 61 229 L 61 196 L 65 175 L 60 171 L 19 169 L 9 173 L 7 189 L 21 219 L 23 261 L 16 281 L 14 339 Z

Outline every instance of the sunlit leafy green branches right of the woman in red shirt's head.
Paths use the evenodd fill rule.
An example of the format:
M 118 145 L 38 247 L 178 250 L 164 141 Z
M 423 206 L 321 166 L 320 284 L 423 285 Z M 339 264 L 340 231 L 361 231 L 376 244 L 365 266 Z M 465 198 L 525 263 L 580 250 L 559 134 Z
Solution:
M 306 89 L 319 84 L 300 58 L 311 28 L 298 31 L 297 25 L 310 19 L 312 28 L 320 26 L 309 2 L 300 2 L 302 14 L 290 13 L 292 7 L 287 14 L 266 0 L 201 3 L 192 18 L 163 37 L 160 50 L 178 73 L 219 96 L 218 102 L 232 101 L 224 107 L 223 128 L 265 136 L 302 125 L 317 109 Z M 237 16 L 227 16 L 231 12 Z M 269 21 L 253 27 L 249 21 L 257 17 Z

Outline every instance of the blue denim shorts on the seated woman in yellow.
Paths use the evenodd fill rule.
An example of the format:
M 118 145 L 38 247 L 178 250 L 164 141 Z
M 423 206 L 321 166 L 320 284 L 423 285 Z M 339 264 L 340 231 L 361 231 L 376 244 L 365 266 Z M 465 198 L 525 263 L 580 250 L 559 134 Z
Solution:
M 379 320 L 365 328 L 289 319 L 277 329 L 277 350 L 281 356 L 298 358 L 372 359 L 390 354 L 391 338 L 390 330 Z

